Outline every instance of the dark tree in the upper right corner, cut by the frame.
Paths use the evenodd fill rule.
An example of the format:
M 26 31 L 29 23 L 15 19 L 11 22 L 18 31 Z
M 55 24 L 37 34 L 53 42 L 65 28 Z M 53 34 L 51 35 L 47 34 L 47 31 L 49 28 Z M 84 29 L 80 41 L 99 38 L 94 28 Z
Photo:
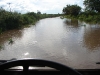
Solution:
M 100 12 L 100 0 L 84 0 L 85 10 Z

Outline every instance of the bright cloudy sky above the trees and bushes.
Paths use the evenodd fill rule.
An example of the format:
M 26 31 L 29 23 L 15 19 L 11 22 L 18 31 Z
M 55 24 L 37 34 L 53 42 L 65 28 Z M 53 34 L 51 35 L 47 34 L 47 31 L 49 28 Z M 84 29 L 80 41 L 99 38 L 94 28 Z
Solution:
M 19 13 L 37 11 L 48 14 L 62 13 L 67 4 L 77 4 L 84 8 L 83 0 L 0 0 L 0 7 L 7 11 L 11 8 L 12 12 Z

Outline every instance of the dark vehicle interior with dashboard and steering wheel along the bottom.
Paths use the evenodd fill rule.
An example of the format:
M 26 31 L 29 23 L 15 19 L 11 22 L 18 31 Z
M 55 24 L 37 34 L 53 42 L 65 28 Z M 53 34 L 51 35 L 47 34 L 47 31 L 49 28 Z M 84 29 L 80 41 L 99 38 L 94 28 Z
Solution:
M 42 59 L 0 60 L 0 62 L 0 75 L 100 75 L 100 69 L 73 69 Z

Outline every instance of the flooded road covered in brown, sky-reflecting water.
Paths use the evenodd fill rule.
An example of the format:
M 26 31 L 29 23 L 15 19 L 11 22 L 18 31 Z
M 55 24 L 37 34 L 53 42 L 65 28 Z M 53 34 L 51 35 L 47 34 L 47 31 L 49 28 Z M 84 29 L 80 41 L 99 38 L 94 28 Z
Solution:
M 12 39 L 12 43 L 9 43 Z M 100 68 L 100 25 L 47 18 L 0 35 L 0 59 L 38 58 L 75 69 Z

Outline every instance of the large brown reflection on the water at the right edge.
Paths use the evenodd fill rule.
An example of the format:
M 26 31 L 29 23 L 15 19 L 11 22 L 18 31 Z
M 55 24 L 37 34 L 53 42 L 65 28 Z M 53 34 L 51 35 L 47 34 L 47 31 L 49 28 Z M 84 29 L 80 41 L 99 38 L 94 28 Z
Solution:
M 99 50 L 100 48 L 100 26 L 89 25 L 85 28 L 83 43 L 88 50 Z

